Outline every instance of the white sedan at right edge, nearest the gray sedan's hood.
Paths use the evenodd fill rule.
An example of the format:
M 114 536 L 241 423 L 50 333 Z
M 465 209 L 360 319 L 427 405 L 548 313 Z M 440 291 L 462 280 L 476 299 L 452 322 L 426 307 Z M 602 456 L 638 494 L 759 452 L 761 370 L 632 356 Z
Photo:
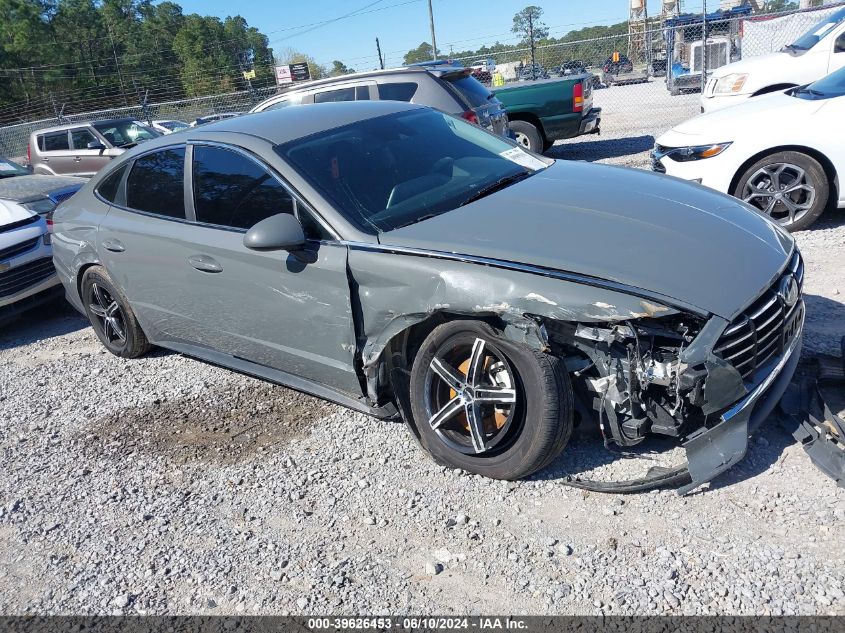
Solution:
M 657 139 L 655 171 L 728 193 L 789 231 L 845 207 L 845 68 L 691 119 Z

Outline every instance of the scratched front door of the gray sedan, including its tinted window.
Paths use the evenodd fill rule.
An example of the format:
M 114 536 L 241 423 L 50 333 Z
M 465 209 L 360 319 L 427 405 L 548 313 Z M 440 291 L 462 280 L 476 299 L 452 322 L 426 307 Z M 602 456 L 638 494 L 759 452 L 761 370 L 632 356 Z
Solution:
M 360 395 L 346 247 L 254 155 L 227 145 L 190 147 L 196 224 L 178 265 L 197 342 Z M 247 229 L 279 213 L 300 218 L 306 251 L 243 245 Z

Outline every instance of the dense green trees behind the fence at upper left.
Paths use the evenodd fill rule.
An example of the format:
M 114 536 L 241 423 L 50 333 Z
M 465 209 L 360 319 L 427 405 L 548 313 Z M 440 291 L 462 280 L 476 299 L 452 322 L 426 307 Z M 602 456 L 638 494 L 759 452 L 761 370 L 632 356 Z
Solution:
M 248 71 L 253 88 L 272 86 L 273 65 L 267 36 L 237 15 L 185 15 L 168 0 L 0 0 L 0 125 L 245 90 Z

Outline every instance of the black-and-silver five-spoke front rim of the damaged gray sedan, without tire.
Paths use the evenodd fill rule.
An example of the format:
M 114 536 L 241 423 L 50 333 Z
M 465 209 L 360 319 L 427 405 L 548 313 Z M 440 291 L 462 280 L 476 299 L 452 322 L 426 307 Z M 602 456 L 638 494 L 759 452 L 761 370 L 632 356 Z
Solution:
M 454 358 L 464 356 L 457 351 Z M 445 356 L 431 360 L 425 390 L 428 424 L 455 450 L 484 453 L 507 435 L 517 405 L 514 377 L 504 357 L 481 338 L 459 366 L 465 370 Z

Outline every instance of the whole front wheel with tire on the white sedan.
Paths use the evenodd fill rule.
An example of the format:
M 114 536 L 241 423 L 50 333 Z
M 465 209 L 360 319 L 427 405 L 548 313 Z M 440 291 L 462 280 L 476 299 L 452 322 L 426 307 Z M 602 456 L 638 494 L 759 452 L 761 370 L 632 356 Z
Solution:
M 800 152 L 778 152 L 746 169 L 733 195 L 787 231 L 803 231 L 827 207 L 830 185 L 816 159 Z

